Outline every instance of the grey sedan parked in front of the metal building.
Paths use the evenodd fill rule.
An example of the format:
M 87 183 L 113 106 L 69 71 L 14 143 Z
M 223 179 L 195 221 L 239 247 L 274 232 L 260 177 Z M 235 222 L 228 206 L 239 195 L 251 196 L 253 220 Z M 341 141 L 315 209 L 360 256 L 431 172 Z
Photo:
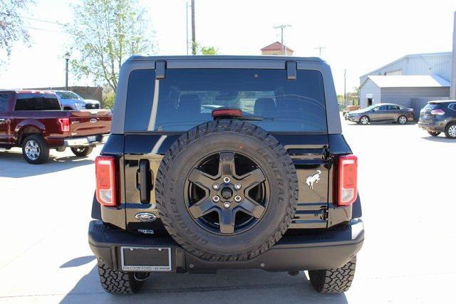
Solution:
M 367 125 L 369 122 L 397 122 L 405 125 L 408 121 L 415 120 L 415 112 L 402 105 L 377 103 L 362 110 L 348 112 L 346 119 L 361 125 Z

